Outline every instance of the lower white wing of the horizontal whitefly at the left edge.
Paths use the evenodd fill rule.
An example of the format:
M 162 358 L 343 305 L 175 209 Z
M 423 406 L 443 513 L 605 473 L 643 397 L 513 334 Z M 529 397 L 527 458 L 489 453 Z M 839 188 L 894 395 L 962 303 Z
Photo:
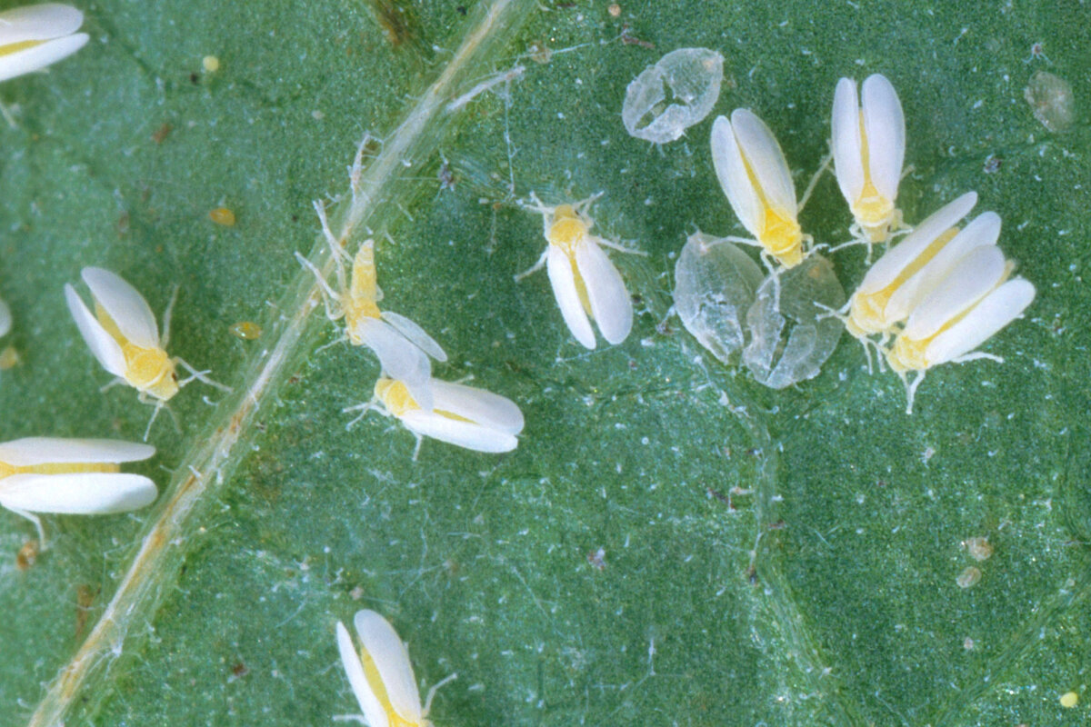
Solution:
M 139 474 L 13 474 L 0 480 L 0 505 L 28 512 L 110 514 L 151 505 L 155 483 Z

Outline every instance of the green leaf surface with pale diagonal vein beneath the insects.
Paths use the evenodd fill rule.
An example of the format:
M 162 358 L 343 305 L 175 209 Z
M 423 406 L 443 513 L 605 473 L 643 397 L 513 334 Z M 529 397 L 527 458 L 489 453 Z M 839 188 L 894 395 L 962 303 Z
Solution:
M 33 525 L 0 511 L 0 724 L 328 724 L 357 711 L 334 625 L 359 608 L 392 621 L 425 686 L 458 673 L 439 725 L 1083 724 L 1086 700 L 1059 702 L 1087 696 L 1091 667 L 1081 10 L 492 7 L 100 0 L 87 47 L 0 89 L 16 121 L 0 129 L 2 344 L 22 356 L 0 372 L 0 440 L 144 432 L 132 389 L 98 392 L 62 301 L 85 265 L 157 313 L 180 286 L 171 353 L 235 389 L 193 384 L 177 429 L 160 415 L 157 457 L 127 468 L 160 485 L 153 508 L 46 517 L 52 547 L 25 569 Z M 714 113 L 759 113 L 801 189 L 837 78 L 890 77 L 907 219 L 976 190 L 1038 287 L 986 344 L 1006 363 L 937 368 L 907 416 L 848 337 L 772 391 L 669 317 L 686 235 L 740 233 L 711 117 L 663 147 L 621 122 L 627 83 L 682 47 L 723 54 Z M 1023 99 L 1042 69 L 1074 87 L 1065 133 Z M 513 280 L 546 244 L 516 204 L 531 191 L 604 191 L 600 231 L 648 253 L 611 254 L 639 300 L 623 344 L 585 351 L 544 274 Z M 293 259 L 331 269 L 315 198 L 352 244 L 376 240 L 384 305 L 451 356 L 436 375 L 519 403 L 515 452 L 425 441 L 415 461 L 394 420 L 346 431 L 377 364 L 324 348 L 338 331 Z M 831 178 L 801 220 L 846 239 Z M 851 291 L 863 251 L 834 262 Z M 260 338 L 232 336 L 240 322 Z

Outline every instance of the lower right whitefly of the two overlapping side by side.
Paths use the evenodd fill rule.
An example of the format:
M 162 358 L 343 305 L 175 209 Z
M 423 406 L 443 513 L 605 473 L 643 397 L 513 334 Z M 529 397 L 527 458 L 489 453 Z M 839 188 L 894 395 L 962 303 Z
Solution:
M 975 351 L 1015 320 L 1034 300 L 1034 286 L 1022 278 L 1008 280 L 1014 269 L 999 249 L 991 245 L 967 253 L 950 274 L 913 308 L 904 329 L 887 353 L 887 361 L 907 383 L 909 405 L 924 373 L 947 362 L 962 363 L 997 356 Z

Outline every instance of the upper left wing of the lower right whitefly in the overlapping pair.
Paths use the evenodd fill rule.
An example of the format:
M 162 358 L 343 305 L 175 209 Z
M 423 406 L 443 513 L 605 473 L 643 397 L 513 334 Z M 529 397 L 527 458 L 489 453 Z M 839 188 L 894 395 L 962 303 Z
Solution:
M 996 288 L 1007 270 L 998 247 L 978 247 L 909 316 L 902 336 L 923 341 Z

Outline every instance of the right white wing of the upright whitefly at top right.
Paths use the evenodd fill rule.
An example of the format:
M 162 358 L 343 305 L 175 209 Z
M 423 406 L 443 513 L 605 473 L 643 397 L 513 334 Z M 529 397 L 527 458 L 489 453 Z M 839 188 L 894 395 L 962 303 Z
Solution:
M 901 165 L 906 158 L 906 118 L 901 101 L 886 76 L 867 76 L 862 88 L 864 131 L 867 134 L 872 184 L 887 199 L 898 196 Z

